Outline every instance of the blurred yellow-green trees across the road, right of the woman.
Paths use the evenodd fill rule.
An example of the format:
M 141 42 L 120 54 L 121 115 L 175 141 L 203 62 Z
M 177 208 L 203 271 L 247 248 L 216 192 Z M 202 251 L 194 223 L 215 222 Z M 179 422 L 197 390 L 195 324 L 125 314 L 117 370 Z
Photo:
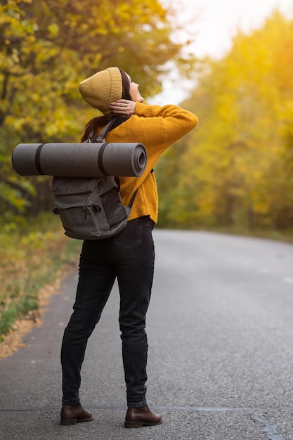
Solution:
M 158 173 L 164 226 L 283 230 L 293 226 L 293 22 L 277 11 L 207 60 L 183 103 L 197 129 Z M 165 189 L 166 188 L 166 189 Z M 171 188 L 171 189 L 170 189 Z M 161 223 L 162 224 L 162 223 Z

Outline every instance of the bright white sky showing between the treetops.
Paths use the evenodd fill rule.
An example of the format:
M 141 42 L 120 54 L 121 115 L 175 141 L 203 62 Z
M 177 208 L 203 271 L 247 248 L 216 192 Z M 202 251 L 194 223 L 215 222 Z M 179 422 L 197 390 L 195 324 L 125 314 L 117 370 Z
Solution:
M 249 32 L 261 27 L 274 9 L 293 18 L 293 0 L 161 0 L 161 3 L 178 11 L 176 20 L 195 39 L 188 50 L 198 57 L 222 58 L 230 50 L 238 29 Z M 188 96 L 190 87 L 193 88 L 190 82 L 185 82 L 181 89 L 174 89 L 174 83 L 166 81 L 163 93 L 151 103 L 178 104 Z

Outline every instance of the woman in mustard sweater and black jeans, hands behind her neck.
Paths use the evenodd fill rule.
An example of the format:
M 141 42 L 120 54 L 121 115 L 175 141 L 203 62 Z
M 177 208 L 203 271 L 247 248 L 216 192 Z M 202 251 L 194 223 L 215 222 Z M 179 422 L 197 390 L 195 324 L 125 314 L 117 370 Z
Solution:
M 125 427 L 159 425 L 162 418 L 145 400 L 148 340 L 145 315 L 150 302 L 155 252 L 152 229 L 157 222 L 157 185 L 153 167 L 172 143 L 197 125 L 197 117 L 176 105 L 143 104 L 138 84 L 117 67 L 110 67 L 79 84 L 84 101 L 103 116 L 92 119 L 82 140 L 98 133 L 111 119 L 125 121 L 108 133 L 107 141 L 141 142 L 148 164 L 141 177 L 121 177 L 124 205 L 138 189 L 129 221 L 123 231 L 105 240 L 83 242 L 74 312 L 65 328 L 61 363 L 63 408 L 61 425 L 89 422 L 92 415 L 79 402 L 80 370 L 87 340 L 100 319 L 117 277 L 120 295 L 119 328 L 126 382 Z

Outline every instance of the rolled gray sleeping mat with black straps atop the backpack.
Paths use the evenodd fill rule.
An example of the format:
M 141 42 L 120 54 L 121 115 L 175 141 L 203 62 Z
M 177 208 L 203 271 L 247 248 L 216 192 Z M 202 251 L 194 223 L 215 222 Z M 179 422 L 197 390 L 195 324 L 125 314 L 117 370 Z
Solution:
M 20 176 L 135 176 L 148 161 L 142 143 L 19 143 L 12 165 Z

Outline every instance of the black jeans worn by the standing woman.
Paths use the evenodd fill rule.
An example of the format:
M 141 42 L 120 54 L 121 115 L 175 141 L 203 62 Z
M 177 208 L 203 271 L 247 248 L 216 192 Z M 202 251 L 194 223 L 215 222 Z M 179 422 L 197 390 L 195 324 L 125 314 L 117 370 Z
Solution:
M 115 237 L 84 241 L 74 311 L 65 328 L 61 349 L 63 404 L 79 401 L 80 372 L 86 344 L 100 319 L 116 277 L 120 294 L 119 327 L 127 406 L 146 404 L 148 339 L 145 315 L 154 273 L 153 227 L 150 217 L 143 216 L 129 221 Z

